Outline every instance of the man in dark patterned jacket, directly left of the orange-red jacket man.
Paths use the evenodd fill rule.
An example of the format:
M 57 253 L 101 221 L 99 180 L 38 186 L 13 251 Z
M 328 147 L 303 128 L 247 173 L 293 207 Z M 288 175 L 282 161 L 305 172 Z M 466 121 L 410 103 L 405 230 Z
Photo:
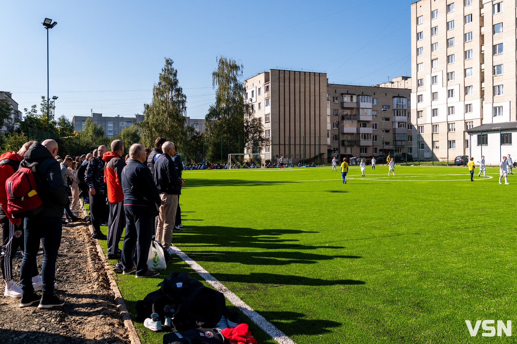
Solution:
M 106 240 L 107 236 L 100 231 L 100 224 L 103 216 L 107 214 L 106 184 L 104 184 L 104 161 L 102 156 L 108 151 L 107 146 L 100 145 L 97 149 L 97 156 L 90 159 L 84 181 L 89 188 L 90 222 L 94 233 L 92 238 Z

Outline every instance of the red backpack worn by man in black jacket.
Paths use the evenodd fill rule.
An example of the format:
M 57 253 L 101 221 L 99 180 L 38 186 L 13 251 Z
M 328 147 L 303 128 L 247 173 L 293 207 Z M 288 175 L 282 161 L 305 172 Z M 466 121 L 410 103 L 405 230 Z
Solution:
M 18 171 L 7 178 L 5 183 L 7 211 L 17 219 L 34 216 L 43 210 L 34 179 L 37 162 L 26 166 L 24 162 L 20 163 Z

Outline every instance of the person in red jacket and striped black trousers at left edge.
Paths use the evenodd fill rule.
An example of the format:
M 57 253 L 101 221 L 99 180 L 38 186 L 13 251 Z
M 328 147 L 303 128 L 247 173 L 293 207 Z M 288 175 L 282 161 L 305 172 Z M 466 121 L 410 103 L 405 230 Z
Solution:
M 12 281 L 12 258 L 20 248 L 24 250 L 24 236 L 22 219 L 12 217 L 7 211 L 7 192 L 5 183 L 14 172 L 18 171 L 23 154 L 34 141 L 25 143 L 18 152 L 7 152 L 0 155 L 0 226 L 2 226 L 2 255 L 0 265 L 5 281 L 4 296 L 10 298 L 21 298 L 21 288 Z M 34 264 L 33 286 L 41 289 L 41 278 L 38 273 L 38 266 Z

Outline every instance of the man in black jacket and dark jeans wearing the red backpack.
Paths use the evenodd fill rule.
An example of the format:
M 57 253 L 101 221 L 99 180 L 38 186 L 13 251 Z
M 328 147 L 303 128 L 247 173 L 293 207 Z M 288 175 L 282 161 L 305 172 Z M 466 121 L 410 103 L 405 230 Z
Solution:
M 24 160 L 21 162 L 22 165 L 38 163 L 34 175 L 43 210 L 35 216 L 25 218 L 23 223 L 25 251 L 20 267 L 23 294 L 19 307 L 27 307 L 38 301 L 38 308 L 52 308 L 65 304 L 64 300 L 54 294 L 57 251 L 63 231 L 63 211 L 68 204 L 68 194 L 63 185 L 59 162 L 54 158 L 57 150 L 57 142 L 54 140 L 44 140 L 41 144 L 35 142 L 25 152 Z M 40 241 L 43 246 L 41 297 L 34 291 L 32 284 Z

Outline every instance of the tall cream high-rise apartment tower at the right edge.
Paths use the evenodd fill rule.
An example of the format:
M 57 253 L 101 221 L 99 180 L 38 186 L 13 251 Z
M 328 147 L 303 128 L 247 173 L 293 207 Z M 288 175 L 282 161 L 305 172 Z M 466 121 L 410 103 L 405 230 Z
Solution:
M 516 121 L 516 4 L 420 0 L 411 5 L 414 158 L 469 152 L 464 130 Z

